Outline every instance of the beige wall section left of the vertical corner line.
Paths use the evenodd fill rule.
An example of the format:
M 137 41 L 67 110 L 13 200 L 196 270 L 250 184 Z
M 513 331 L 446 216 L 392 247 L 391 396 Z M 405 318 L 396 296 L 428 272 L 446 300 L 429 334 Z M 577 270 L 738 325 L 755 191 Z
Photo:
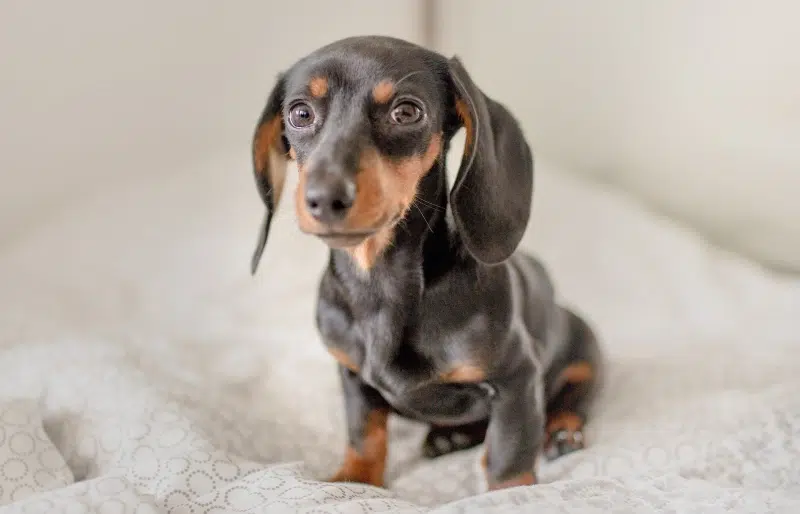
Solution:
M 275 74 L 321 44 L 418 39 L 416 0 L 292 3 L 0 2 L 0 244 L 101 181 L 248 151 Z

